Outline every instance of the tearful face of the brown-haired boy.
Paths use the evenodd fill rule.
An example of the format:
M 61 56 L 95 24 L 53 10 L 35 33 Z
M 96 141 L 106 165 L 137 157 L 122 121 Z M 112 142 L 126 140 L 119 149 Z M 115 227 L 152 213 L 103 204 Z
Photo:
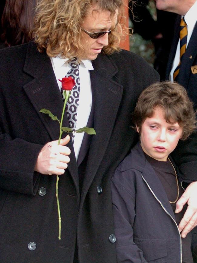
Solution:
M 137 127 L 139 131 L 139 127 Z M 140 141 L 143 151 L 158 161 L 167 161 L 182 136 L 182 127 L 167 123 L 162 108 L 155 107 L 151 118 L 146 118 L 141 127 Z

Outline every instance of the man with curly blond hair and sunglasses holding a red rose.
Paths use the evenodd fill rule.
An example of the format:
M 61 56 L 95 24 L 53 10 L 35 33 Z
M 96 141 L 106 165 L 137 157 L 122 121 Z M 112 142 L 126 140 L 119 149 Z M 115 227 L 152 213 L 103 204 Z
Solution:
M 159 81 L 142 58 L 118 48 L 124 8 L 122 0 L 41 0 L 34 42 L 0 51 L 0 262 L 116 262 L 110 178 L 138 140 L 130 115 L 139 94 Z M 72 64 L 80 78 L 79 98 L 75 90 L 69 98 L 78 99 L 75 126 L 96 135 L 65 134 L 58 145 L 58 123 L 40 110 L 61 117 L 58 79 Z M 192 214 L 196 188 L 185 191 Z

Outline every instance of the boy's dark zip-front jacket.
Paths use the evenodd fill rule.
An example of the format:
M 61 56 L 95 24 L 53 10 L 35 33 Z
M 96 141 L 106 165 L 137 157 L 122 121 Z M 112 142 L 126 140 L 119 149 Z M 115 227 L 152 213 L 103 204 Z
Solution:
M 172 207 L 139 143 L 116 169 L 111 189 L 118 262 L 181 262 Z

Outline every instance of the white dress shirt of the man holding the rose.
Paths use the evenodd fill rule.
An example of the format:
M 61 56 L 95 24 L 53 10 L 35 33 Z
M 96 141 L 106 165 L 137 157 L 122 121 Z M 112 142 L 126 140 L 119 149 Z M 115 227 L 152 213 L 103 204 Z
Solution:
M 67 61 L 68 58 L 62 59 L 60 56 L 51 58 L 51 63 L 53 66 L 59 89 L 61 89 L 62 83 L 58 79 L 64 78 L 67 72 L 71 69 L 71 66 L 67 63 Z M 79 128 L 83 128 L 88 123 L 88 118 L 92 108 L 92 89 L 89 70 L 93 69 L 94 68 L 92 66 L 91 60 L 82 60 L 82 62 L 79 65 L 80 93 L 78 102 L 79 106 L 77 109 L 76 130 Z M 61 118 L 61 116 L 58 117 Z M 84 132 L 75 133 L 74 150 L 76 160 L 78 159 L 78 154 L 82 144 L 83 136 Z

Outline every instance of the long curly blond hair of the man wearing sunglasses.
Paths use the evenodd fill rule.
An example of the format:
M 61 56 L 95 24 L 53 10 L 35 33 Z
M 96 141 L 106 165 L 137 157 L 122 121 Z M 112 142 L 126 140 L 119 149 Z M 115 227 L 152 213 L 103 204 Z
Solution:
M 105 54 L 119 51 L 119 43 L 127 28 L 120 20 L 124 19 L 122 0 L 39 0 L 36 8 L 32 38 L 43 52 L 55 57 L 82 57 L 85 53 L 81 44 L 81 25 L 85 16 L 96 4 L 99 9 L 115 15 L 119 11 L 118 23 L 109 35 L 109 45 L 102 49 Z

